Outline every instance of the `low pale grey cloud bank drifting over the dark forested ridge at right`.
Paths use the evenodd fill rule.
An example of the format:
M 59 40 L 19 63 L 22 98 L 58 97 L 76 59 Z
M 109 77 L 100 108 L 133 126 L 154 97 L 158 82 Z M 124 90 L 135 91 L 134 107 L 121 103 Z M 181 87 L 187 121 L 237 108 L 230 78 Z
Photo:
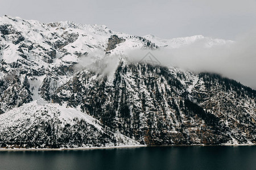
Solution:
M 221 74 L 256 89 L 256 32 L 247 33 L 233 43 L 211 47 L 206 43 L 203 39 L 176 49 L 150 50 L 150 53 L 162 65 Z M 139 61 L 147 52 L 131 50 L 128 54 Z

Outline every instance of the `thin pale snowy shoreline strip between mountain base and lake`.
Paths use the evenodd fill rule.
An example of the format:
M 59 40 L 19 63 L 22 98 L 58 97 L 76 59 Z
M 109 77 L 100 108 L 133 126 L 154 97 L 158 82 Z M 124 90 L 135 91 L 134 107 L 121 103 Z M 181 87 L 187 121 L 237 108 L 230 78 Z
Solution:
M 108 146 L 108 147 L 76 147 L 76 148 L 0 148 L 1 151 L 75 151 L 75 150 L 99 150 L 113 148 L 137 148 L 137 147 L 187 147 L 187 146 L 256 146 L 256 144 L 241 145 L 162 145 L 162 146 L 146 146 L 146 145 L 124 145 L 124 146 Z

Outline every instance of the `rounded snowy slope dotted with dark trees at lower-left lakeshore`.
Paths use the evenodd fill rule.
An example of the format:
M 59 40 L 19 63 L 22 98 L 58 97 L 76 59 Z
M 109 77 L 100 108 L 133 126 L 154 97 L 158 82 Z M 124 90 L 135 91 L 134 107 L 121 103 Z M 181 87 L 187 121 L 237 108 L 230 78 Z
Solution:
M 75 108 L 32 101 L 0 115 L 1 147 L 56 148 L 139 145 Z M 18 145 L 17 145 L 18 143 Z

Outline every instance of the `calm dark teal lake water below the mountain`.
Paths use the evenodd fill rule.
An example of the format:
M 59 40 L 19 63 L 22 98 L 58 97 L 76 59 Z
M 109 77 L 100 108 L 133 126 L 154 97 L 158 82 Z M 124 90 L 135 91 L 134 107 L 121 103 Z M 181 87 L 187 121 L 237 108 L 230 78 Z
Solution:
M 256 169 L 256 146 L 0 151 L 0 169 Z

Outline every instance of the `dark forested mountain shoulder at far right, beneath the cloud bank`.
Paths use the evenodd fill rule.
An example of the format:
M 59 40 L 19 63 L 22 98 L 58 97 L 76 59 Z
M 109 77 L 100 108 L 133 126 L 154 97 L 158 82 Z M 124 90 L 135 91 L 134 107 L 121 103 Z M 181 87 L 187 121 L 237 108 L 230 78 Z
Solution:
M 233 141 L 255 143 L 255 91 L 215 74 L 199 74 L 190 99 L 225 125 Z

